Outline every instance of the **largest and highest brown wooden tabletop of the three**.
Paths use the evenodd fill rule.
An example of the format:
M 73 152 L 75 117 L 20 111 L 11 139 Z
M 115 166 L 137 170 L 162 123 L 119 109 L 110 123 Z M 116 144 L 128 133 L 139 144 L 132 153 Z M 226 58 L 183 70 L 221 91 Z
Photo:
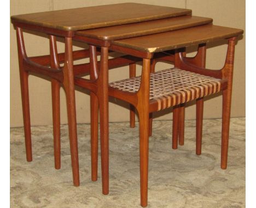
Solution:
M 11 16 L 12 22 L 60 30 L 82 30 L 191 15 L 190 9 L 121 3 Z

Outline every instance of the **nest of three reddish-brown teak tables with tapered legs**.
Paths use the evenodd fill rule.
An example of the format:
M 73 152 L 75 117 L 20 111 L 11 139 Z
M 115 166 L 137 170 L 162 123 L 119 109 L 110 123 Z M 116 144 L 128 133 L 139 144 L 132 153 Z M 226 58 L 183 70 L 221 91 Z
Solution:
M 100 109 L 100 139 L 101 139 L 101 167 L 103 194 L 108 194 L 108 96 L 118 97 L 134 105 L 139 113 L 140 129 L 140 158 L 141 158 L 141 205 L 147 206 L 148 187 L 148 136 L 150 112 L 158 111 L 159 105 L 151 103 L 136 106 L 131 96 L 122 96 L 109 87 L 108 69 L 121 65 L 129 65 L 133 69 L 135 63 L 143 59 L 142 77 L 149 77 L 150 64 L 154 59 L 177 60 L 180 66 L 186 63 L 195 64 L 194 72 L 199 71 L 196 65 L 204 68 L 205 44 L 210 41 L 229 39 L 228 57 L 226 65 L 232 66 L 234 60 L 235 37 L 243 33 L 240 29 L 226 28 L 212 25 L 212 19 L 191 16 L 191 10 L 155 5 L 123 3 L 102 5 L 97 7 L 67 9 L 16 15 L 11 17 L 17 38 L 20 65 L 20 83 L 22 95 L 22 110 L 24 115 L 24 131 L 27 161 L 32 161 L 30 110 L 28 101 L 28 74 L 40 74 L 51 79 L 53 97 L 54 124 L 54 155 L 55 168 L 60 168 L 60 85 L 66 93 L 69 140 L 74 186 L 79 186 L 79 164 L 77 144 L 77 123 L 75 115 L 74 85 L 91 91 L 91 156 L 92 180 L 97 180 L 97 113 Z M 27 57 L 22 30 L 34 30 L 49 34 L 50 55 Z M 65 38 L 65 53 L 57 53 L 55 36 Z M 89 44 L 89 50 L 72 50 L 72 40 Z M 181 57 L 184 48 L 199 45 L 199 55 L 193 58 Z M 98 50 L 98 48 L 100 50 Z M 171 50 L 176 50 L 171 54 Z M 108 59 L 109 51 L 127 54 L 126 56 Z M 167 51 L 167 53 L 166 53 Z M 161 53 L 165 52 L 165 53 Z M 176 54 L 177 53 L 177 54 Z M 179 55 L 178 55 L 179 54 Z M 97 62 L 97 55 L 101 56 Z M 90 63 L 73 65 L 73 60 L 90 57 Z M 171 57 L 171 58 L 170 58 Z M 60 63 L 64 63 L 61 67 Z M 193 69 L 192 69 L 193 68 Z M 98 70 L 99 69 L 99 70 Z M 151 70 L 152 71 L 152 70 Z M 81 76 L 90 74 L 90 79 Z M 221 72 L 211 72 L 213 77 L 222 77 Z M 208 73 L 206 73 L 209 75 Z M 226 76 L 226 75 L 225 75 Z M 224 77 L 225 77 L 224 76 Z M 231 83 L 232 84 L 232 83 Z M 142 87 L 144 89 L 145 86 Z M 228 101 L 231 101 L 231 85 L 228 84 Z M 145 88 L 146 91 L 149 89 Z M 146 93 L 147 94 L 147 93 Z M 142 96 L 143 97 L 143 96 Z M 147 99 L 144 96 L 143 99 Z M 170 104 L 171 105 L 171 104 Z M 167 106 L 168 107 L 168 106 Z M 141 109 L 143 108 L 143 110 Z M 230 113 L 230 109 L 226 109 Z M 229 126 L 230 114 L 226 115 L 226 126 Z M 147 117 L 147 118 L 146 118 Z M 228 130 L 228 129 L 227 129 Z M 228 139 L 228 134 L 226 135 Z M 173 140 L 175 144 L 175 139 Z M 226 167 L 228 143 L 222 150 L 222 168 Z

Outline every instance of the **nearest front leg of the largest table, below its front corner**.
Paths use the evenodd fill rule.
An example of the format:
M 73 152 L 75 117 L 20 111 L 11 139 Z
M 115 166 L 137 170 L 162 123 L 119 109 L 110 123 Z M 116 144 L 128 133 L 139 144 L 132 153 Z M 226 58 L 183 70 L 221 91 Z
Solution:
M 79 161 L 77 144 L 77 121 L 75 115 L 75 94 L 73 76 L 72 38 L 65 38 L 65 63 L 63 67 L 63 87 L 66 93 L 68 131 L 74 186 L 79 186 Z

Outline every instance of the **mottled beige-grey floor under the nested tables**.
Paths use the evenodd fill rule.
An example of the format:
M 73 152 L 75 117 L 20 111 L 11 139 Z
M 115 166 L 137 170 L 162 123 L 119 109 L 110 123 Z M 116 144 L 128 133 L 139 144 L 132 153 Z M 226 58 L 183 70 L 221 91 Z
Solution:
M 61 126 L 61 169 L 54 169 L 52 126 L 32 127 L 26 162 L 23 128 L 10 130 L 10 207 L 140 207 L 138 124 L 109 124 L 109 194 L 90 180 L 90 126 L 78 125 L 80 186 L 72 184 L 68 128 Z M 203 122 L 202 155 L 195 121 L 185 145 L 171 148 L 172 121 L 154 121 L 149 139 L 148 207 L 245 207 L 245 118 L 231 119 L 228 169 L 220 169 L 221 120 Z M 99 166 L 100 168 L 100 166 Z

